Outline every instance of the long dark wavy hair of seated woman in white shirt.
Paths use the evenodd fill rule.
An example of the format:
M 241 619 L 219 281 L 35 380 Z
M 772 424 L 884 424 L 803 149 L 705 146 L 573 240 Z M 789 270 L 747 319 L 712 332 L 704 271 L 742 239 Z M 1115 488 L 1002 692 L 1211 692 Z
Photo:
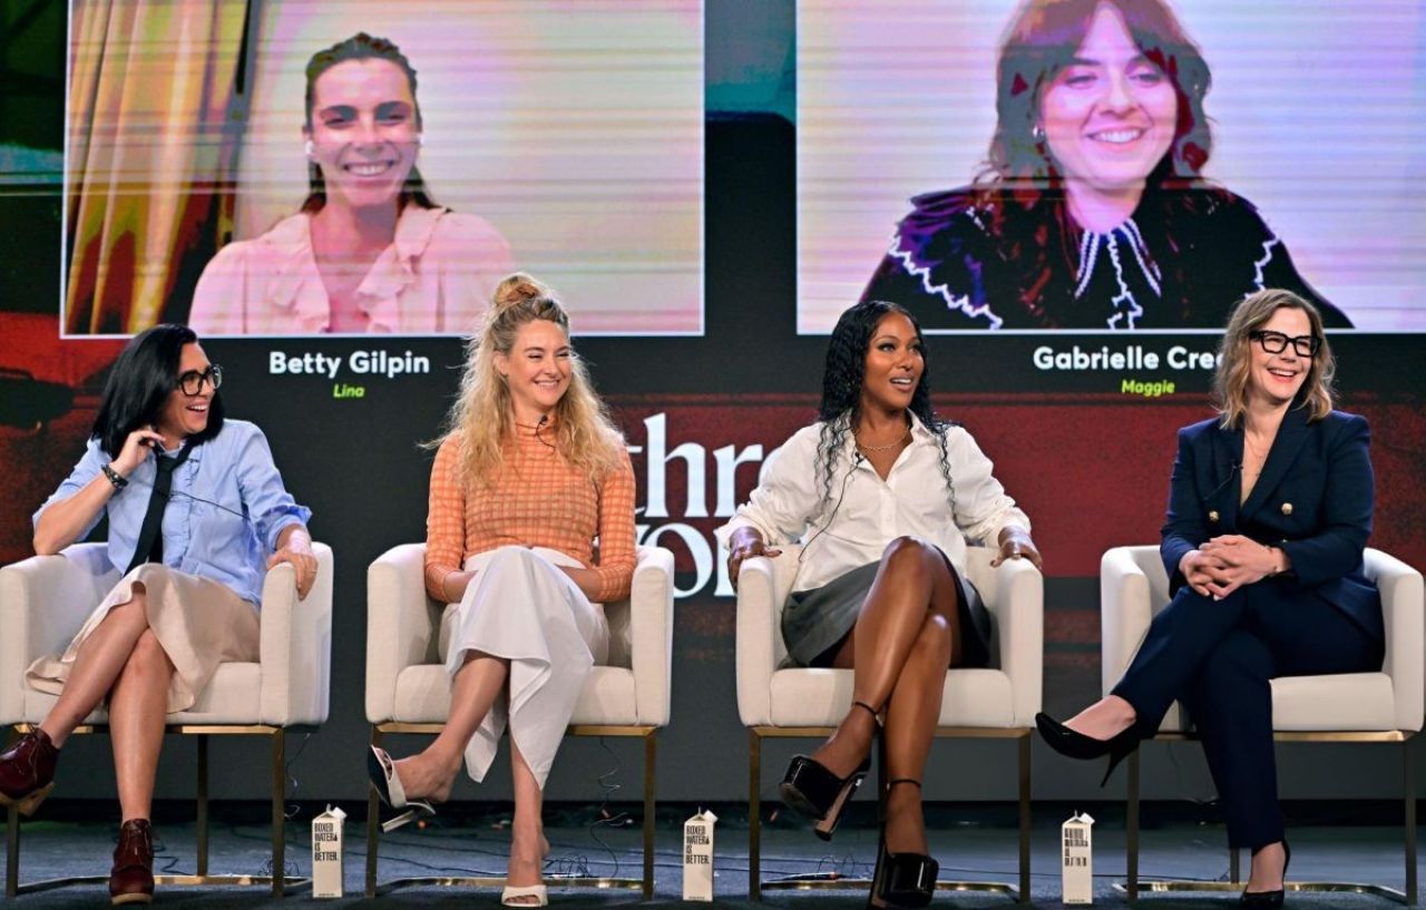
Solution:
M 943 421 L 931 407 L 931 362 L 921 338 L 921 324 L 901 304 L 884 300 L 867 300 L 848 307 L 837 319 L 837 327 L 831 329 L 831 339 L 827 342 L 827 364 L 821 371 L 821 404 L 817 405 L 821 436 L 817 441 L 816 471 L 821 476 L 823 503 L 831 502 L 837 454 L 841 452 L 847 435 L 861 415 L 861 385 L 867 377 L 867 351 L 871 348 L 871 338 L 881 319 L 890 314 L 904 315 L 915 329 L 915 339 L 921 342 L 925 365 L 907 411 L 921 419 L 941 448 L 941 476 L 945 478 L 945 498 L 954 513 L 955 485 L 951 481 L 951 464 L 945 451 L 945 431 L 954 426 L 954 422 Z

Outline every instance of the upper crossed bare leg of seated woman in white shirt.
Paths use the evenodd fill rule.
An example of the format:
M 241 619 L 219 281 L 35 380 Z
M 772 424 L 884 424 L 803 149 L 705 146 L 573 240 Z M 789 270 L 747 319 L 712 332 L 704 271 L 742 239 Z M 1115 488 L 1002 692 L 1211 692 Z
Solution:
M 955 616 L 960 591 L 937 548 L 915 538 L 897 538 L 881 555 L 857 625 L 837 652 L 833 666 L 854 672 L 851 697 L 881 709 L 891 697 L 911 653 L 927 610 Z M 853 707 L 813 757 L 838 776 L 851 773 L 871 749 L 876 723 Z

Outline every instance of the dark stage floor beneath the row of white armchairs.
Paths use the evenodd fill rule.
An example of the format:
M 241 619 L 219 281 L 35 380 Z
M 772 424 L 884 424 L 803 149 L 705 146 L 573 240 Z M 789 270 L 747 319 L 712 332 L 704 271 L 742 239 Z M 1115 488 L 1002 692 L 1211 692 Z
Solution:
M 81 822 L 84 807 L 70 803 L 57 812 L 44 812 L 60 820 L 44 817 L 29 822 L 23 827 L 21 880 L 33 881 L 58 876 L 107 874 L 117 824 L 111 822 Z M 113 812 L 111 806 L 93 804 L 94 813 Z M 468 887 L 412 887 L 384 894 L 372 901 L 362 897 L 365 870 L 365 823 L 364 810 L 356 806 L 345 827 L 345 884 L 348 897 L 322 901 L 324 906 L 374 906 L 374 907 L 466 907 L 498 906 L 498 890 Z M 630 806 L 629 809 L 636 809 Z M 716 900 L 717 907 L 752 907 L 747 899 L 747 816 L 739 806 L 714 806 L 720 814 L 716 847 Z M 857 809 L 864 809 L 857 806 Z M 1058 820 L 1068 816 L 1051 814 L 1050 809 L 1038 807 L 1032 837 L 1032 899 L 1037 907 L 1060 907 L 1060 827 Z M 1124 874 L 1124 824 L 1122 813 L 1112 806 L 1087 806 L 1091 813 L 1099 809 L 1105 816 L 1094 833 L 1095 903 L 1125 906 L 1122 894 L 1114 884 Z M 188 809 L 191 813 L 191 807 Z M 268 829 L 262 824 L 260 807 L 214 806 L 211 833 L 210 871 L 214 874 L 265 874 L 268 871 Z M 304 804 L 299 816 L 288 823 L 288 873 L 308 874 L 311 870 L 309 823 L 314 807 Z M 680 901 L 682 894 L 682 820 L 692 814 L 693 807 L 660 807 L 657 826 L 656 894 L 652 906 L 707 906 Z M 155 813 L 160 822 L 158 862 L 155 870 L 175 874 L 194 871 L 195 829 L 183 820 L 181 804 L 168 806 Z M 941 879 L 963 879 L 983 881 L 1017 880 L 1017 834 L 1008 827 L 1012 807 L 977 806 L 935 807 L 931 813 L 933 853 L 941 863 Z M 1175 814 L 1175 813 L 1169 813 Z M 167 819 L 164 817 L 167 816 Z M 639 876 L 640 874 L 640 832 L 636 824 L 592 830 L 586 819 L 592 816 L 588 807 L 552 807 L 546 833 L 552 844 L 548 873 L 550 877 L 552 906 L 607 907 L 637 903 L 637 891 L 596 891 L 590 889 L 559 887 L 553 876 Z M 827 873 L 840 876 L 870 876 L 876 860 L 877 836 L 873 826 L 866 824 L 866 813 L 848 820 L 830 843 L 814 839 L 811 833 L 786 819 L 774 819 L 763 827 L 763 880 L 771 881 L 781 876 Z M 401 829 L 385 834 L 381 844 L 381 879 L 405 876 L 501 876 L 509 846 L 509 807 L 482 807 L 465 804 L 461 809 L 442 812 L 425 829 Z M 860 823 L 858 823 L 860 822 Z M 1390 826 L 1338 826 L 1309 824 L 1291 829 L 1293 847 L 1292 877 L 1362 881 L 1400 889 L 1405 881 L 1402 866 L 1402 833 Z M 1226 880 L 1228 850 L 1224 829 L 1218 824 L 1192 820 L 1169 819 L 1154 822 L 1141 833 L 1142 853 L 1139 870 L 1142 879 L 1182 880 Z M 602 843 L 600 843 L 602 842 Z M 1243 854 L 1243 874 L 1248 862 Z M 61 890 L 21 896 L 13 906 L 26 910 L 48 910 L 53 907 L 104 906 L 107 894 L 103 886 L 76 886 Z M 164 907 L 267 907 L 267 906 L 311 906 L 308 891 L 298 891 L 284 901 L 274 901 L 265 889 L 183 889 L 170 887 L 160 891 L 158 904 Z M 764 894 L 763 903 L 770 907 L 860 907 L 866 903 L 864 891 L 789 891 L 776 890 Z M 1172 910 L 1176 907 L 1225 907 L 1236 904 L 1236 894 L 1148 894 L 1141 904 L 1149 909 Z M 1382 897 L 1362 894 L 1289 894 L 1289 906 L 1298 907 L 1346 907 L 1369 910 L 1372 907 L 1400 906 Z M 933 906 L 943 907 L 1012 907 L 1012 899 L 997 894 L 938 893 Z

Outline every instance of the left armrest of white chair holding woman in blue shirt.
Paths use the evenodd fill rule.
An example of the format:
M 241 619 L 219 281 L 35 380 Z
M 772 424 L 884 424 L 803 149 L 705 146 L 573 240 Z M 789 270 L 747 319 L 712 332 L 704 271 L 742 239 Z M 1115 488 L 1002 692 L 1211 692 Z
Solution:
M 63 652 L 120 578 L 106 543 L 0 568 L 0 723 L 24 720 L 24 672 Z

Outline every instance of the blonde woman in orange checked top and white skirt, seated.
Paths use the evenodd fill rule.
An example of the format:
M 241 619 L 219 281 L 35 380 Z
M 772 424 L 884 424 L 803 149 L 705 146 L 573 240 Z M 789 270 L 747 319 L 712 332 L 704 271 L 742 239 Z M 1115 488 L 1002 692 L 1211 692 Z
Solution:
M 425 752 L 392 760 L 374 747 L 368 770 L 394 809 L 434 813 L 462 757 L 485 777 L 509 723 L 502 901 L 543 906 L 542 790 L 585 679 L 607 656 L 602 603 L 629 596 L 633 466 L 570 348 L 569 317 L 528 275 L 496 288 L 449 425 L 431 471 L 426 591 L 451 605 L 441 636 L 451 713 Z

